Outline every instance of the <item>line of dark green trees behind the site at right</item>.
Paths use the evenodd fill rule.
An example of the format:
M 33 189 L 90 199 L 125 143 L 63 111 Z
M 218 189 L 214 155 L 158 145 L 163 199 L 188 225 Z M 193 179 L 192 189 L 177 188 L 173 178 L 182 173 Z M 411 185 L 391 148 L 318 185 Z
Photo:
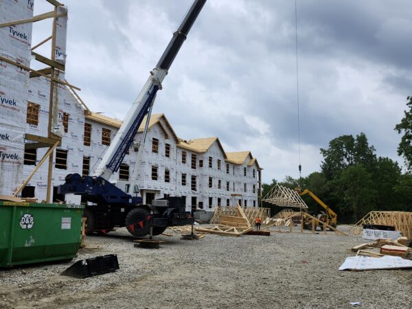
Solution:
M 398 155 L 404 159 L 404 170 L 388 157 L 378 157 L 364 133 L 355 137 L 342 135 L 321 148 L 320 171 L 301 179 L 286 176 L 282 182 L 273 179 L 262 185 L 262 196 L 277 183 L 290 189 L 308 189 L 338 214 L 340 223 L 354 223 L 369 211 L 412 211 L 412 97 L 395 130 L 402 135 Z M 309 196 L 302 196 L 309 211 L 319 214 L 323 208 Z M 281 208 L 268 203 L 275 214 Z

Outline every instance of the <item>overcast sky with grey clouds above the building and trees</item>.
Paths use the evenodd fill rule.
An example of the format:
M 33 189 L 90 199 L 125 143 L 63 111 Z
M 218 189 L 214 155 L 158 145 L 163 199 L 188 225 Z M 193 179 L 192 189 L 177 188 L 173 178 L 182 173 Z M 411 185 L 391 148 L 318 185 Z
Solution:
M 67 80 L 92 111 L 123 119 L 192 0 L 64 3 Z M 361 132 L 402 163 L 393 128 L 412 95 L 411 1 L 298 0 L 297 20 L 303 176 L 319 170 L 319 148 Z M 49 34 L 36 23 L 33 43 Z M 296 93 L 295 1 L 207 0 L 154 113 L 183 139 L 251 150 L 267 183 L 299 176 Z

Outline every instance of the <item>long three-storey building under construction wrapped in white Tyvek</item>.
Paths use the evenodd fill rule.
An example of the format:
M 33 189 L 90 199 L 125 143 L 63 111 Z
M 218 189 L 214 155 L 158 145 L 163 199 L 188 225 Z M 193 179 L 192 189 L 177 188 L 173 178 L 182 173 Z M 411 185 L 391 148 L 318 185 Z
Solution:
M 65 80 L 67 8 L 48 2 L 51 12 L 38 16 L 34 1 L 0 2 L 0 17 L 8 16 L 0 20 L 0 194 L 50 202 L 63 200 L 56 186 L 67 174 L 93 174 L 122 122 L 90 111 Z M 32 44 L 33 23 L 45 19 L 51 35 Z M 37 53 L 47 44 L 50 54 Z M 136 154 L 132 146 L 116 179 L 131 177 Z M 218 137 L 181 139 L 163 114 L 150 117 L 137 166 L 144 203 L 170 195 L 185 196 L 193 211 L 258 206 L 262 168 L 251 152 L 225 152 Z

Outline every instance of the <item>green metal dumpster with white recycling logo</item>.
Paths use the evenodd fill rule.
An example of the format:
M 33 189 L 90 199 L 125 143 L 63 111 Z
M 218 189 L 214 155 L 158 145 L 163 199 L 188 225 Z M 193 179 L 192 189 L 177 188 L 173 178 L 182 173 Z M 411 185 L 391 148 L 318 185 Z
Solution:
M 0 267 L 76 258 L 83 209 L 0 201 Z

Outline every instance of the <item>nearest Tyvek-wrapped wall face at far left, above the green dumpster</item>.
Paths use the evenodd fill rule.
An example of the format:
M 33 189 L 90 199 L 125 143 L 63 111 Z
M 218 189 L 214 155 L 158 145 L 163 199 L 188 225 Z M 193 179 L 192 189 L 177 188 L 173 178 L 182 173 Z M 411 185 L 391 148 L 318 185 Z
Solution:
M 0 23 L 30 19 L 34 1 L 0 1 Z M 32 24 L 0 28 L 0 56 L 30 65 Z M 29 72 L 0 60 L 0 194 L 12 194 L 23 176 Z

